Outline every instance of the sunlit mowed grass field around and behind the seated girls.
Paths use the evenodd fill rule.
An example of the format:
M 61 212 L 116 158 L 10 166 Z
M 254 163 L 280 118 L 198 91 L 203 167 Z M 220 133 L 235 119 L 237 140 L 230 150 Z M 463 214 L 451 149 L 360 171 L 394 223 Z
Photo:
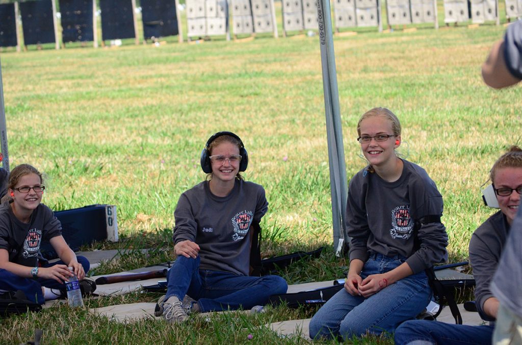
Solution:
M 403 126 L 400 152 L 428 171 L 444 197 L 451 262 L 467 259 L 471 233 L 495 211 L 480 186 L 509 145 L 519 143 L 518 87 L 494 91 L 480 76 L 503 26 L 416 32 L 374 30 L 336 38 L 347 175 L 364 167 L 359 117 L 392 109 Z M 250 162 L 244 176 L 266 189 L 263 254 L 331 247 L 332 221 L 321 57 L 317 36 L 251 42 L 213 40 L 160 47 L 30 50 L 1 55 L 11 168 L 30 163 L 47 176 L 55 210 L 93 203 L 118 207 L 122 241 L 96 248 L 155 248 L 97 273 L 173 260 L 171 228 L 180 194 L 205 178 L 199 154 L 230 130 Z M 333 250 L 282 274 L 290 284 L 339 278 L 348 261 Z M 89 307 L 156 301 L 159 294 L 89 299 Z M 260 316 L 219 316 L 183 326 L 109 322 L 66 306 L 0 321 L 0 342 L 44 330 L 45 343 L 256 343 L 281 339 L 268 322 L 310 317 L 281 307 Z M 363 343 L 387 343 L 370 337 Z

